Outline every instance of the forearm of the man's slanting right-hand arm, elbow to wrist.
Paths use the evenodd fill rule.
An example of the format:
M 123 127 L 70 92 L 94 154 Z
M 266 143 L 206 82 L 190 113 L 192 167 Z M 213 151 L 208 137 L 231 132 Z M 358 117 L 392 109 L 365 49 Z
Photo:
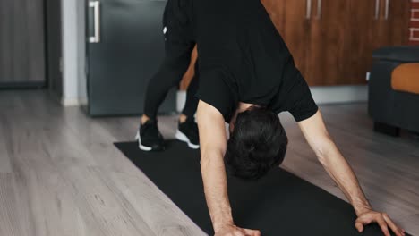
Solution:
M 356 215 L 371 210 L 371 205 L 365 198 L 354 171 L 335 144 L 330 144 L 327 151 L 319 156 L 319 159 L 330 177 L 338 184 L 340 190 L 344 192 L 346 198 L 354 206 Z

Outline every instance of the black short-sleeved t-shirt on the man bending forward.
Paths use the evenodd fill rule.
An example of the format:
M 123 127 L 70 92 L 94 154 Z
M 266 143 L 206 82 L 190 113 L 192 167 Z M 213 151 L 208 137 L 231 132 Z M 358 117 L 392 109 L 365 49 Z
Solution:
M 318 110 L 310 89 L 260 0 L 192 4 L 198 44 L 197 97 L 229 122 L 239 102 L 289 111 L 297 122 Z

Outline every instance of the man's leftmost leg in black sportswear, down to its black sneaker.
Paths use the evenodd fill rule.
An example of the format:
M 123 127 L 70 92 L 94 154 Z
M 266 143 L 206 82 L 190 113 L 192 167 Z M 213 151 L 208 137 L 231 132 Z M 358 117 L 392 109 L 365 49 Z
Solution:
M 189 64 L 195 43 L 192 38 L 192 24 L 187 14 L 188 5 L 179 1 L 168 1 L 163 17 L 165 34 L 165 60 L 158 72 L 151 78 L 144 99 L 144 114 L 137 134 L 142 150 L 164 150 L 165 144 L 158 131 L 158 107 L 172 87 L 177 87 Z

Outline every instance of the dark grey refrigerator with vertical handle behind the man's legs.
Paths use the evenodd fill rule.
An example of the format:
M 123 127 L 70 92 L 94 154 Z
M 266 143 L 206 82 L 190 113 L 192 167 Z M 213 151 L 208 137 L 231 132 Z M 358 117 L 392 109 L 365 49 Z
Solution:
M 88 114 L 142 113 L 148 81 L 163 60 L 165 5 L 159 0 L 86 2 Z M 175 112 L 175 91 L 159 113 Z

